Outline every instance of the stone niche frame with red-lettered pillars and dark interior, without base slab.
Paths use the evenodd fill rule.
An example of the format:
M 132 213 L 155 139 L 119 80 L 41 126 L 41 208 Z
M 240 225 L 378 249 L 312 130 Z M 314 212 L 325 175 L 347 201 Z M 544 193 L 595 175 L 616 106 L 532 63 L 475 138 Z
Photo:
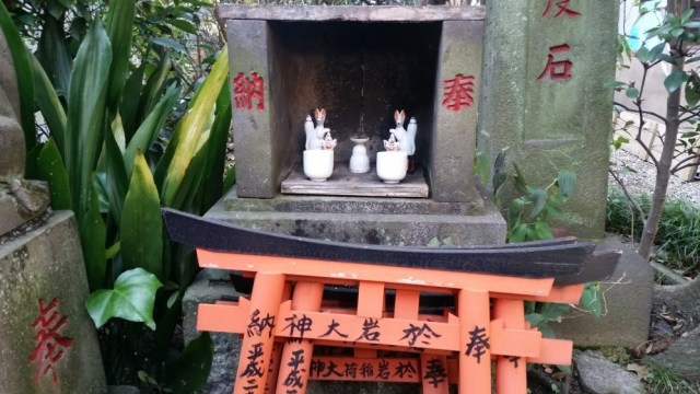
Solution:
M 220 16 L 228 21 L 240 197 L 272 198 L 280 185 L 283 193 L 304 194 L 283 181 L 302 158 L 305 116 L 325 107 L 326 127 L 338 139 L 337 171 L 348 166 L 351 137 L 370 138 L 374 162 L 395 127 L 394 111 L 405 109 L 406 125 L 418 119 L 420 197 L 479 200 L 468 174 L 483 8 L 222 4 Z M 327 194 L 376 196 L 362 194 L 362 185 L 343 194 L 347 173 L 329 179 Z

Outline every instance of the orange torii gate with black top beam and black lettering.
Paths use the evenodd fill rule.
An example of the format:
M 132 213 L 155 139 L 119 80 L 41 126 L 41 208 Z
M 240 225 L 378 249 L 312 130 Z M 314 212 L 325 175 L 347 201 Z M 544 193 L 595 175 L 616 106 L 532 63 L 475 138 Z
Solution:
M 478 265 L 474 268 L 482 273 L 384 265 L 373 263 L 372 255 L 365 256 L 371 263 L 353 263 L 347 257 L 338 260 L 249 254 L 249 247 L 255 246 L 246 235 L 262 237 L 258 246 L 270 253 L 273 250 L 269 247 L 275 244 L 284 250 L 284 242 L 298 243 L 301 253 L 312 255 L 314 252 L 304 251 L 305 243 L 311 242 L 313 251 L 339 244 L 214 224 L 174 211 L 166 211 L 165 218 L 174 240 L 203 244 L 206 248 L 197 248 L 201 267 L 240 271 L 254 278 L 248 298 L 200 304 L 198 311 L 199 331 L 243 336 L 234 394 L 301 394 L 310 379 L 413 382 L 422 385 L 423 393 L 448 393 L 452 383 L 457 384 L 460 394 L 490 393 L 492 360 L 498 393 L 526 393 L 526 362 L 569 364 L 573 344 L 542 338 L 529 327 L 524 302 L 576 303 L 584 286 L 579 281 L 609 275 L 619 257 L 615 252 L 592 254 L 590 245 L 571 239 L 529 247 L 442 251 L 453 253 L 452 258 L 462 256 L 463 260 L 476 253 L 477 262 L 490 264 L 495 262 L 493 255 L 522 256 L 533 264 L 553 264 L 552 269 L 560 271 L 565 265 L 562 259 L 552 262 L 553 255 L 534 251 L 563 251 L 571 259 L 584 256 L 578 271 L 563 269 L 565 273 L 558 276 L 556 283 L 553 277 L 503 276 Z M 202 233 L 202 223 L 215 225 L 218 235 Z M 221 232 L 231 231 L 237 232 L 237 245 L 244 253 L 209 251 L 221 248 L 215 245 L 218 237 L 226 237 Z M 265 236 L 276 242 L 269 243 Z M 376 247 L 378 252 L 396 251 Z M 583 254 L 581 247 L 585 248 Z M 415 250 L 425 253 L 417 255 L 420 257 L 433 256 L 436 251 Z M 430 266 L 431 262 L 422 265 Z M 325 298 L 324 289 L 337 286 L 357 288 L 357 302 L 338 305 Z M 387 305 L 387 291 L 394 293 L 393 305 Z M 455 308 L 442 315 L 422 313 L 421 294 L 454 298 Z M 314 346 L 318 345 L 352 348 L 353 352 L 314 355 Z M 402 356 L 380 356 L 386 350 Z

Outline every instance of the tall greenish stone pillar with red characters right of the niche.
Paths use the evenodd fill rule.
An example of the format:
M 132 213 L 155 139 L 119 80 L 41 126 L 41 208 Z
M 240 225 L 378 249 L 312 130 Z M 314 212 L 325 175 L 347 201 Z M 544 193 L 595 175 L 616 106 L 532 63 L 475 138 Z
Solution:
M 565 4 L 564 4 L 565 3 Z M 617 1 L 489 2 L 478 149 L 501 149 L 528 183 L 559 170 L 578 185 L 561 225 L 603 237 L 615 78 Z M 509 193 L 510 192 L 510 193 Z M 506 189 L 508 204 L 515 197 Z

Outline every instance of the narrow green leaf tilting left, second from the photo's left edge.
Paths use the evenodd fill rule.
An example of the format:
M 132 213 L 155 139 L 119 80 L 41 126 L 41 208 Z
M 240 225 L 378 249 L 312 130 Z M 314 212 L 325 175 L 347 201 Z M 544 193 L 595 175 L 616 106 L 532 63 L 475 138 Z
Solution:
M 34 76 L 34 100 L 42 111 L 49 130 L 51 130 L 51 138 L 56 140 L 57 149 L 62 149 L 65 147 L 66 123 L 68 121 L 66 109 L 58 100 L 58 94 L 56 94 L 56 90 L 39 61 L 33 55 L 30 55 L 30 61 Z

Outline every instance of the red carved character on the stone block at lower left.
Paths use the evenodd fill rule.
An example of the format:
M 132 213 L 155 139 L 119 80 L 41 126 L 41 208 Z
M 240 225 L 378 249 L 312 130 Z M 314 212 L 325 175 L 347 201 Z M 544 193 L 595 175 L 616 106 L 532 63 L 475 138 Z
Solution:
M 59 316 L 58 299 L 51 300 L 46 306 L 44 300 L 39 300 L 38 304 L 39 315 L 32 323 L 32 328 L 38 329 L 34 336 L 36 347 L 30 355 L 30 360 L 37 363 L 34 381 L 38 383 L 42 375 L 50 372 L 54 383 L 58 385 L 54 366 L 63 357 L 65 350 L 73 345 L 73 339 L 58 333 L 68 323 L 68 317 Z

